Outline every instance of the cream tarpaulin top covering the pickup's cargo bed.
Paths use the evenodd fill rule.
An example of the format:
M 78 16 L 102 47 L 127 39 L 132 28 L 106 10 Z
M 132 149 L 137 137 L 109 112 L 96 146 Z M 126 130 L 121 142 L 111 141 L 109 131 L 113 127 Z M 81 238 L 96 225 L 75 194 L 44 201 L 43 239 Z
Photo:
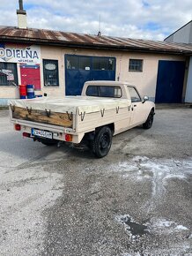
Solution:
M 124 108 L 130 105 L 127 99 L 111 99 L 89 96 L 66 96 L 63 98 L 34 98 L 29 100 L 10 100 L 11 106 L 37 109 L 51 110 L 57 113 L 92 113 L 100 110 Z

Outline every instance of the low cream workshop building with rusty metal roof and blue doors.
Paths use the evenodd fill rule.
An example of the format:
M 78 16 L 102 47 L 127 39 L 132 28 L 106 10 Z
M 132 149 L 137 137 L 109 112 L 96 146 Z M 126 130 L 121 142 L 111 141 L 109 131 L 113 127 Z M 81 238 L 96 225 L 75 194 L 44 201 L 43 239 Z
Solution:
M 123 80 L 154 102 L 185 102 L 192 47 L 18 27 L 0 27 L 0 105 L 35 94 L 76 95 L 87 80 Z

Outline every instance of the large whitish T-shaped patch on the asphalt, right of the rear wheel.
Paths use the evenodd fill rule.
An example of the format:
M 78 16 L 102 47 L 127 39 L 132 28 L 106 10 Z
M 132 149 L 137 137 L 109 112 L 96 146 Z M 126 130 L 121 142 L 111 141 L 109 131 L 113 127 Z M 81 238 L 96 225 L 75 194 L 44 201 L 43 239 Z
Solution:
M 164 197 L 171 179 L 188 182 L 187 176 L 192 173 L 192 158 L 181 161 L 135 156 L 127 162 L 112 164 L 109 168 L 110 172 L 117 172 L 122 178 L 129 178 L 136 183 L 151 181 L 151 198 L 143 206 L 144 210 L 150 212 Z

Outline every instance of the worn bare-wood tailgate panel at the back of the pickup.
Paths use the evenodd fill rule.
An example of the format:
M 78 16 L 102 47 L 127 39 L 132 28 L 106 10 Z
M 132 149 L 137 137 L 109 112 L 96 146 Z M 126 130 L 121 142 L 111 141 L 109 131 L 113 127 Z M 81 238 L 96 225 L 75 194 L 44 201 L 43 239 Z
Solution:
M 25 109 L 20 107 L 14 107 L 11 110 L 12 118 L 16 119 L 27 120 L 42 124 L 54 124 L 67 128 L 72 128 L 73 125 L 73 117 L 72 115 L 69 116 L 67 113 L 49 113 L 49 111 L 47 112 L 46 110 L 43 111 L 37 109 Z

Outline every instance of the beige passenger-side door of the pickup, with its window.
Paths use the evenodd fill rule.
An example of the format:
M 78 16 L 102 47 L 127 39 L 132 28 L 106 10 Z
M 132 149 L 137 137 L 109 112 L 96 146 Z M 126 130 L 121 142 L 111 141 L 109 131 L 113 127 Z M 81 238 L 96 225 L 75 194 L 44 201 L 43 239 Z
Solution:
M 129 88 L 129 94 L 131 99 L 130 126 L 137 126 L 137 124 L 144 123 L 146 111 L 144 110 L 144 104 L 142 103 L 142 99 L 140 95 L 137 93 L 137 89 L 135 87 L 128 87 L 128 88 Z

